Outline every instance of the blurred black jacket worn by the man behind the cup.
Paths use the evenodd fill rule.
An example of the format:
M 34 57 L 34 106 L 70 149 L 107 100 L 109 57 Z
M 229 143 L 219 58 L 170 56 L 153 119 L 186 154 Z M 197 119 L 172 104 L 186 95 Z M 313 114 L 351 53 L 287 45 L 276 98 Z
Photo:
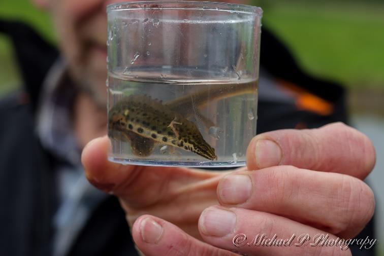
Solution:
M 60 160 L 41 147 L 34 122 L 42 81 L 58 54 L 21 23 L 0 21 L 0 32 L 11 36 L 24 79 L 23 90 L 0 100 L 0 254 L 50 255 L 52 216 L 57 206 L 52 170 Z M 299 110 L 295 104 L 261 97 L 258 133 L 346 122 L 342 87 L 306 75 L 265 27 L 261 49 L 261 65 L 269 75 L 324 99 L 333 111 L 319 115 Z M 373 237 L 371 223 L 361 235 Z M 115 197 L 108 197 L 92 213 L 70 255 L 137 255 Z M 354 255 L 373 255 L 373 251 L 357 250 Z

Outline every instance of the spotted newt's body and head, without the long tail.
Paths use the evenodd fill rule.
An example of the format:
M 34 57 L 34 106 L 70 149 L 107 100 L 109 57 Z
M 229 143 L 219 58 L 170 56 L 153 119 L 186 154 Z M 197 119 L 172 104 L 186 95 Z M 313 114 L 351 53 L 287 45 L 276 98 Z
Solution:
M 133 154 L 140 157 L 149 156 L 155 143 L 161 143 L 217 159 L 193 122 L 146 95 L 130 95 L 111 108 L 108 135 L 130 142 Z

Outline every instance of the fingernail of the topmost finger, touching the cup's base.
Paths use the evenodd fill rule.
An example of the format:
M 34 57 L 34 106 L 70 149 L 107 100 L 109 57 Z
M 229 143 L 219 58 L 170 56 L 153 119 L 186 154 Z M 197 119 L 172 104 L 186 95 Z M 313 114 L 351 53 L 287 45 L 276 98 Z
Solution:
M 269 139 L 259 139 L 255 145 L 256 163 L 259 168 L 279 165 L 282 158 L 281 148 Z

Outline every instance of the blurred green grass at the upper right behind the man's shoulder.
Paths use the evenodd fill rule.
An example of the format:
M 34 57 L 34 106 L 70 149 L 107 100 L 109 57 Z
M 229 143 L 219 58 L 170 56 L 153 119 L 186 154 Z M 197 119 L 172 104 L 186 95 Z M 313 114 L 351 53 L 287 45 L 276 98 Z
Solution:
M 270 26 L 312 74 L 384 89 L 384 3 L 265 1 Z

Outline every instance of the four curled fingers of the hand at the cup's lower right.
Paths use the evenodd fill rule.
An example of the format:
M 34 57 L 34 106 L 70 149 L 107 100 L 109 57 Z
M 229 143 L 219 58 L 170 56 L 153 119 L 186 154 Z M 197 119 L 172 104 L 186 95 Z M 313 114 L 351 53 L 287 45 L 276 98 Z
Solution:
M 277 142 L 281 153 L 276 153 L 270 140 Z M 91 170 L 87 168 L 88 153 L 84 152 L 83 160 L 86 169 Z M 252 140 L 247 152 L 248 169 L 257 171 L 221 179 L 217 188 L 221 206 L 204 210 L 200 217 L 202 237 L 216 247 L 148 215 L 137 220 L 133 236 L 147 256 L 232 255 L 227 250 L 234 248 L 248 255 L 350 255 L 349 250 L 337 246 L 236 248 L 232 239 L 238 233 L 265 233 L 270 238 L 273 234 L 289 238 L 294 233 L 308 233 L 311 237 L 329 233 L 329 239 L 353 237 L 373 214 L 373 193 L 360 179 L 368 175 L 374 162 L 369 139 L 343 124 L 261 134 Z M 275 165 L 288 166 L 268 168 Z M 251 185 L 247 187 L 244 180 L 248 178 Z M 241 181 L 240 189 L 230 182 L 236 180 Z M 224 225 L 226 220 L 232 227 Z

